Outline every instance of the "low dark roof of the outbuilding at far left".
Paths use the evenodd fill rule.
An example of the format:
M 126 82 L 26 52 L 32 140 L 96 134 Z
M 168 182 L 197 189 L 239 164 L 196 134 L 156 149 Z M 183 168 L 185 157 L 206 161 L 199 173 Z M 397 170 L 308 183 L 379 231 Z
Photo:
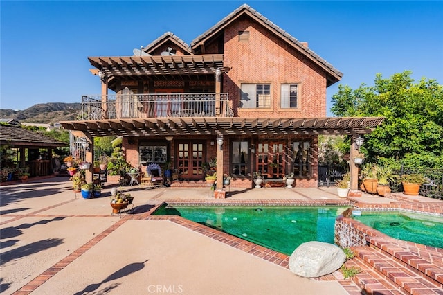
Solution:
M 13 147 L 63 147 L 63 141 L 15 126 L 0 125 L 0 144 Z

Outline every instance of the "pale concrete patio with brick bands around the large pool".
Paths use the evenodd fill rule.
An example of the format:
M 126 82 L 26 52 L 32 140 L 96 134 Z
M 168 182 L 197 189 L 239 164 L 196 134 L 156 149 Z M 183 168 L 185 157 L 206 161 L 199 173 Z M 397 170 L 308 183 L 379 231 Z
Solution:
M 360 294 L 359 286 L 339 271 L 323 280 L 301 278 L 287 269 L 287 256 L 210 229 L 197 232 L 192 222 L 149 217 L 147 211 L 164 201 L 187 200 L 295 204 L 356 199 L 360 206 L 379 208 L 407 202 L 372 195 L 344 201 L 335 188 L 232 188 L 227 199 L 214 199 L 210 188 L 132 186 L 122 190 L 134 196 L 138 213 L 119 216 L 111 215 L 110 188 L 86 200 L 63 177 L 1 186 L 2 294 Z M 408 203 L 442 208 L 435 199 L 413 197 L 418 200 Z

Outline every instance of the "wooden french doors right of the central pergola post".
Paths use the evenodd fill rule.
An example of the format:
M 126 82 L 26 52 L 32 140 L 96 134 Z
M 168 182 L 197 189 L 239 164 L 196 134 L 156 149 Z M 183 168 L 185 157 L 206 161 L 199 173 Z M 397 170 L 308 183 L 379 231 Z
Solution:
M 283 178 L 286 167 L 285 147 L 283 141 L 258 143 L 255 163 L 258 172 L 268 178 Z

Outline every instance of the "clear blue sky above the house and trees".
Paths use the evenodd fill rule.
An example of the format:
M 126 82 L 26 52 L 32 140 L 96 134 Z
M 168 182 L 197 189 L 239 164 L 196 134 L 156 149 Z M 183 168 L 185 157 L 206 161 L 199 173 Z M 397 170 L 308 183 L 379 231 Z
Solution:
M 443 1 L 0 1 L 0 109 L 100 94 L 89 56 L 132 55 L 170 31 L 187 44 L 247 3 L 344 73 L 353 89 L 413 71 L 443 84 Z

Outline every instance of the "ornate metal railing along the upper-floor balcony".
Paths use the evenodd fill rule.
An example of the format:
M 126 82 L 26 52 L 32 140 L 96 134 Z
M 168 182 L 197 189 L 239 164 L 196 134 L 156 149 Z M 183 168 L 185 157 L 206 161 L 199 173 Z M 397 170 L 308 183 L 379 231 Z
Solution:
M 82 96 L 82 120 L 232 116 L 228 93 Z

